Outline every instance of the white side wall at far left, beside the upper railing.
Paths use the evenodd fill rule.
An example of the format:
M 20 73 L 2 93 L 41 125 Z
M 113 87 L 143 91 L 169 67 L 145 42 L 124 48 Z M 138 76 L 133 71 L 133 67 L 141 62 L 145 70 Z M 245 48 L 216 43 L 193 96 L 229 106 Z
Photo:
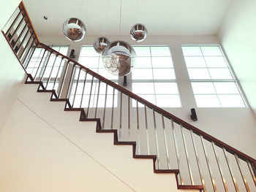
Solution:
M 20 1 L 2 1 L 0 7 L 0 28 L 4 28 L 5 23 L 18 7 Z M 20 66 L 17 58 L 10 49 L 3 34 L 0 34 L 0 133 L 7 116 L 12 108 L 15 97 L 18 94 L 20 85 L 23 84 L 25 72 Z

